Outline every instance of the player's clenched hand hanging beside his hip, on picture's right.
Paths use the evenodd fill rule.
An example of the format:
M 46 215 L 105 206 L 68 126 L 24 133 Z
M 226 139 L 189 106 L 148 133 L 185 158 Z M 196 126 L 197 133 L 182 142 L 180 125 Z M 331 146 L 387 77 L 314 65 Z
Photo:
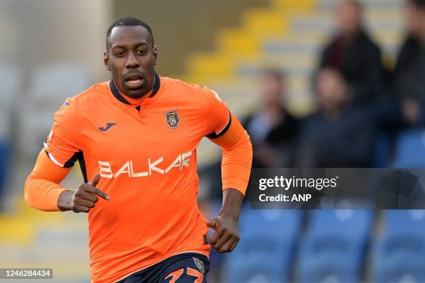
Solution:
M 237 220 L 230 216 L 217 216 L 207 221 L 207 226 L 215 233 L 210 237 L 210 243 L 217 252 L 231 252 L 240 240 Z

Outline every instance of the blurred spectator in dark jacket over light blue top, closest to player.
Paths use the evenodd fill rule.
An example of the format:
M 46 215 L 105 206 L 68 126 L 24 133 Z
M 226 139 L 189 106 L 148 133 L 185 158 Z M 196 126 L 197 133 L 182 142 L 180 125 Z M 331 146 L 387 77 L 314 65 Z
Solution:
M 253 145 L 253 167 L 293 165 L 294 137 L 299 122 L 285 109 L 285 78 L 277 70 L 266 69 L 260 76 L 258 112 L 244 120 Z

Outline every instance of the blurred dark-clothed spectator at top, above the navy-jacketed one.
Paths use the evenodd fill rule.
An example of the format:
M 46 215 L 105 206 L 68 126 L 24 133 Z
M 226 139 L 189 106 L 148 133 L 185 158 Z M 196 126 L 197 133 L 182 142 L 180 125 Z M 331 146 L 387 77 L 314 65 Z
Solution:
M 331 67 L 342 73 L 348 83 L 349 101 L 364 101 L 385 92 L 381 50 L 365 31 L 360 2 L 340 1 L 336 22 L 337 33 L 324 48 L 319 67 Z

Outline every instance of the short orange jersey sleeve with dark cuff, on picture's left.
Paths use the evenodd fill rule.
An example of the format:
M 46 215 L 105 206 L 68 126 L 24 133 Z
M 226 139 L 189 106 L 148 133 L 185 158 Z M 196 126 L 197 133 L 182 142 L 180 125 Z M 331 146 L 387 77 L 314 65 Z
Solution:
M 81 150 L 78 142 L 78 129 L 78 116 L 74 101 L 72 98 L 67 98 L 55 113 L 53 127 L 44 143 L 47 155 L 58 166 L 64 168 L 74 166 Z

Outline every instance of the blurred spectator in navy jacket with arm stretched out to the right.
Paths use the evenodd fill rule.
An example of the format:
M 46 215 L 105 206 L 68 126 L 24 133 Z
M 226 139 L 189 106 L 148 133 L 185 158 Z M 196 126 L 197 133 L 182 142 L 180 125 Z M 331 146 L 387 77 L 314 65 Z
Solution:
M 372 167 L 381 131 L 396 130 L 408 118 L 404 105 L 349 105 L 349 85 L 335 69 L 322 69 L 316 81 L 319 111 L 303 123 L 297 165 Z

